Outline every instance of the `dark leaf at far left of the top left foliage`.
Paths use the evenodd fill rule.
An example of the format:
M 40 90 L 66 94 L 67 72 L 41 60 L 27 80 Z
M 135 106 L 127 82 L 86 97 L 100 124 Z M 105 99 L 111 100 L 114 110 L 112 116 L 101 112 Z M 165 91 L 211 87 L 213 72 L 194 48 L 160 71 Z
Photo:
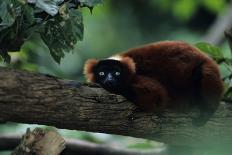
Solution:
M 0 4 L 0 16 L 3 19 L 2 31 L 0 31 L 0 50 L 5 51 L 1 53 L 2 57 L 6 61 L 10 61 L 7 52 L 20 50 L 21 45 L 28 37 L 25 31 L 34 23 L 34 11 L 31 6 L 19 0 L 4 0 L 0 1 Z M 5 20 L 5 18 L 9 19 Z M 7 23 L 8 20 L 10 22 Z

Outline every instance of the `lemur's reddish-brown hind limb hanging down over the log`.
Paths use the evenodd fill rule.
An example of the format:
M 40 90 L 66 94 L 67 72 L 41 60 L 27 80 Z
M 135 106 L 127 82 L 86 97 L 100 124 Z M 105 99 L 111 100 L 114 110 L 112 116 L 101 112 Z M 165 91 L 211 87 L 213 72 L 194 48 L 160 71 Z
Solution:
M 195 100 L 200 108 L 200 117 L 193 120 L 196 126 L 204 125 L 217 110 L 223 93 L 223 82 L 218 66 L 212 61 L 199 64 L 193 72 Z

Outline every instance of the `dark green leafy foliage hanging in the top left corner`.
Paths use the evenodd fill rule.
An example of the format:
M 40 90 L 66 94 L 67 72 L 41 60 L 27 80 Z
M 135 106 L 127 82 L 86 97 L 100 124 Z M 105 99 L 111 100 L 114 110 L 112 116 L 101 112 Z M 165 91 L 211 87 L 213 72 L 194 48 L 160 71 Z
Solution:
M 0 1 L 0 55 L 10 62 L 34 33 L 40 34 L 56 62 L 83 39 L 81 7 L 90 10 L 102 0 L 2 0 Z

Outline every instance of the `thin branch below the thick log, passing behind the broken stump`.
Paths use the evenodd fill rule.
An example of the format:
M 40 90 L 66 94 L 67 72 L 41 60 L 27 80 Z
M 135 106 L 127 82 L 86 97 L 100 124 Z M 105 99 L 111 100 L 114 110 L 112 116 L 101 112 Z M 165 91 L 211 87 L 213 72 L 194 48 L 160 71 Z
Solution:
M 17 135 L 0 135 L 0 150 L 12 150 L 20 142 L 20 137 Z M 76 139 L 65 139 L 66 148 L 61 155 L 166 155 L 166 147 L 157 149 L 125 149 L 116 148 L 106 144 L 95 144 L 91 142 L 76 140 Z

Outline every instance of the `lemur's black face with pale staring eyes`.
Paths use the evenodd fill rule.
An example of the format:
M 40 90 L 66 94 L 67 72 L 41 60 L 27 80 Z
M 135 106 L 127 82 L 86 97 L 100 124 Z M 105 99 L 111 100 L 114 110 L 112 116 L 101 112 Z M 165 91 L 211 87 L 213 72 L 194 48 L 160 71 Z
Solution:
M 103 88 L 119 92 L 124 87 L 123 65 L 117 60 L 101 60 L 94 68 L 96 82 Z

